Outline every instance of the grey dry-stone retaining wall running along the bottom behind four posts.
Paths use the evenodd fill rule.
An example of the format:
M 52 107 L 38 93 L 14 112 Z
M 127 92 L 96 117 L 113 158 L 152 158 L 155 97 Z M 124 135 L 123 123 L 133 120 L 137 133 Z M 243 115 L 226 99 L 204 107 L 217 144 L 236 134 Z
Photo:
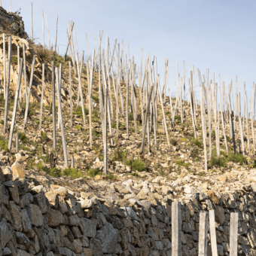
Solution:
M 108 201 L 97 193 L 45 187 L 14 179 L 10 167 L 0 169 L 0 255 L 172 255 L 168 197 L 159 202 L 126 194 Z M 230 212 L 239 212 L 239 254 L 256 255 L 255 189 L 209 190 L 181 202 L 183 255 L 198 254 L 199 215 L 209 209 L 215 209 L 219 255 L 229 254 Z

